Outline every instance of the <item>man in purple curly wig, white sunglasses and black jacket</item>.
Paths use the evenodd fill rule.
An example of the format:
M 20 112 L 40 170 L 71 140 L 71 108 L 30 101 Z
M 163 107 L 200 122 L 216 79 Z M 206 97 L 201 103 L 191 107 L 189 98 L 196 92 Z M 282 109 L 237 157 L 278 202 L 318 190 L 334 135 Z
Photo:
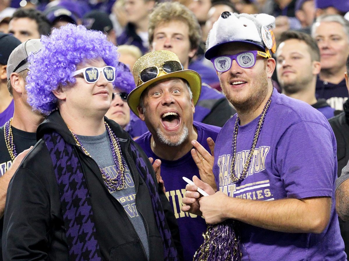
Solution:
M 104 117 L 120 81 L 117 48 L 73 24 L 41 43 L 26 88 L 48 116 L 9 184 L 3 259 L 179 260 L 178 226 L 153 167 Z

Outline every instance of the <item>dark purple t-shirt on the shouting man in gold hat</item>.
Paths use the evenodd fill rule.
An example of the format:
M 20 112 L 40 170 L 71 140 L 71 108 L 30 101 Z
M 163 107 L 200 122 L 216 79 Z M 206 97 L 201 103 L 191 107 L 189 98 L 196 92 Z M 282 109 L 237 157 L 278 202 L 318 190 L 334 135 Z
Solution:
M 206 139 L 211 137 L 215 141 L 221 128 L 195 121 L 193 125 L 198 131 L 198 142 L 210 151 Z M 136 142 L 142 147 L 148 157 L 153 157 L 155 160 L 159 157 L 156 156 L 150 148 L 150 138 L 151 133 L 147 132 L 140 136 Z M 177 219 L 185 261 L 193 260 L 193 255 L 203 242 L 202 233 L 205 232 L 207 228 L 205 219 L 201 216 L 189 214 L 180 210 L 182 198 L 185 193 L 185 186 L 187 184 L 182 177 L 192 179 L 194 175 L 199 177 L 199 170 L 198 167 L 196 167 L 190 151 L 176 161 L 161 159 L 161 177 L 165 183 L 166 196 L 170 201 L 174 216 L 176 216 Z

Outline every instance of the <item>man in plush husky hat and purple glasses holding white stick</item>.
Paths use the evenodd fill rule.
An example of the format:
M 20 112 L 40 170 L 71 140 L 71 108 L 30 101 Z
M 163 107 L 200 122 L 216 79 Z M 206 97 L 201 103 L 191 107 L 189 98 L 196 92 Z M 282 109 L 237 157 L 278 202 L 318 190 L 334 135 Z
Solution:
M 273 89 L 274 21 L 224 12 L 209 33 L 205 57 L 237 114 L 216 140 L 219 191 L 194 178 L 182 210 L 208 224 L 239 221 L 242 260 L 346 260 L 334 208 L 335 137 L 324 115 Z M 210 195 L 199 198 L 197 187 Z M 202 253 L 216 251 L 209 249 Z

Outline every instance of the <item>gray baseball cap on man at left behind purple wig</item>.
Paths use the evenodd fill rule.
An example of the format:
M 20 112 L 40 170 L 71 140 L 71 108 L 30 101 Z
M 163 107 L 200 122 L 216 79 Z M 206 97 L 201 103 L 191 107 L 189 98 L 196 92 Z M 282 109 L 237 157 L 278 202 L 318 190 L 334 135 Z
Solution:
M 18 45 L 10 54 L 7 61 L 7 80 L 12 73 L 19 73 L 28 69 L 28 56 L 42 48 L 40 39 L 30 39 Z

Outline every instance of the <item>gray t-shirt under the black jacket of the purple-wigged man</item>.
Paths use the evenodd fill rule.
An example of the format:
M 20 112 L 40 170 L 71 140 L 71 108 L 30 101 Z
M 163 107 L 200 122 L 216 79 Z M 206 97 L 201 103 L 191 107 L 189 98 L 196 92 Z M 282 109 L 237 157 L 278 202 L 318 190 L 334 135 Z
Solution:
M 78 135 L 78 137 L 84 148 L 89 152 L 96 163 L 100 167 L 102 167 L 102 169 L 104 169 L 109 176 L 115 177 L 117 173 L 116 165 L 112 156 L 110 139 L 107 131 L 98 136 Z M 128 218 L 132 222 L 134 229 L 136 230 L 142 242 L 144 250 L 147 254 L 147 258 L 149 260 L 149 243 L 147 232 L 144 226 L 143 218 L 139 214 L 136 207 L 136 190 L 127 164 L 125 165 L 125 185 L 126 187 L 124 189 L 121 189 L 119 191 L 109 190 L 109 192 L 119 201 L 122 207 L 124 207 Z

